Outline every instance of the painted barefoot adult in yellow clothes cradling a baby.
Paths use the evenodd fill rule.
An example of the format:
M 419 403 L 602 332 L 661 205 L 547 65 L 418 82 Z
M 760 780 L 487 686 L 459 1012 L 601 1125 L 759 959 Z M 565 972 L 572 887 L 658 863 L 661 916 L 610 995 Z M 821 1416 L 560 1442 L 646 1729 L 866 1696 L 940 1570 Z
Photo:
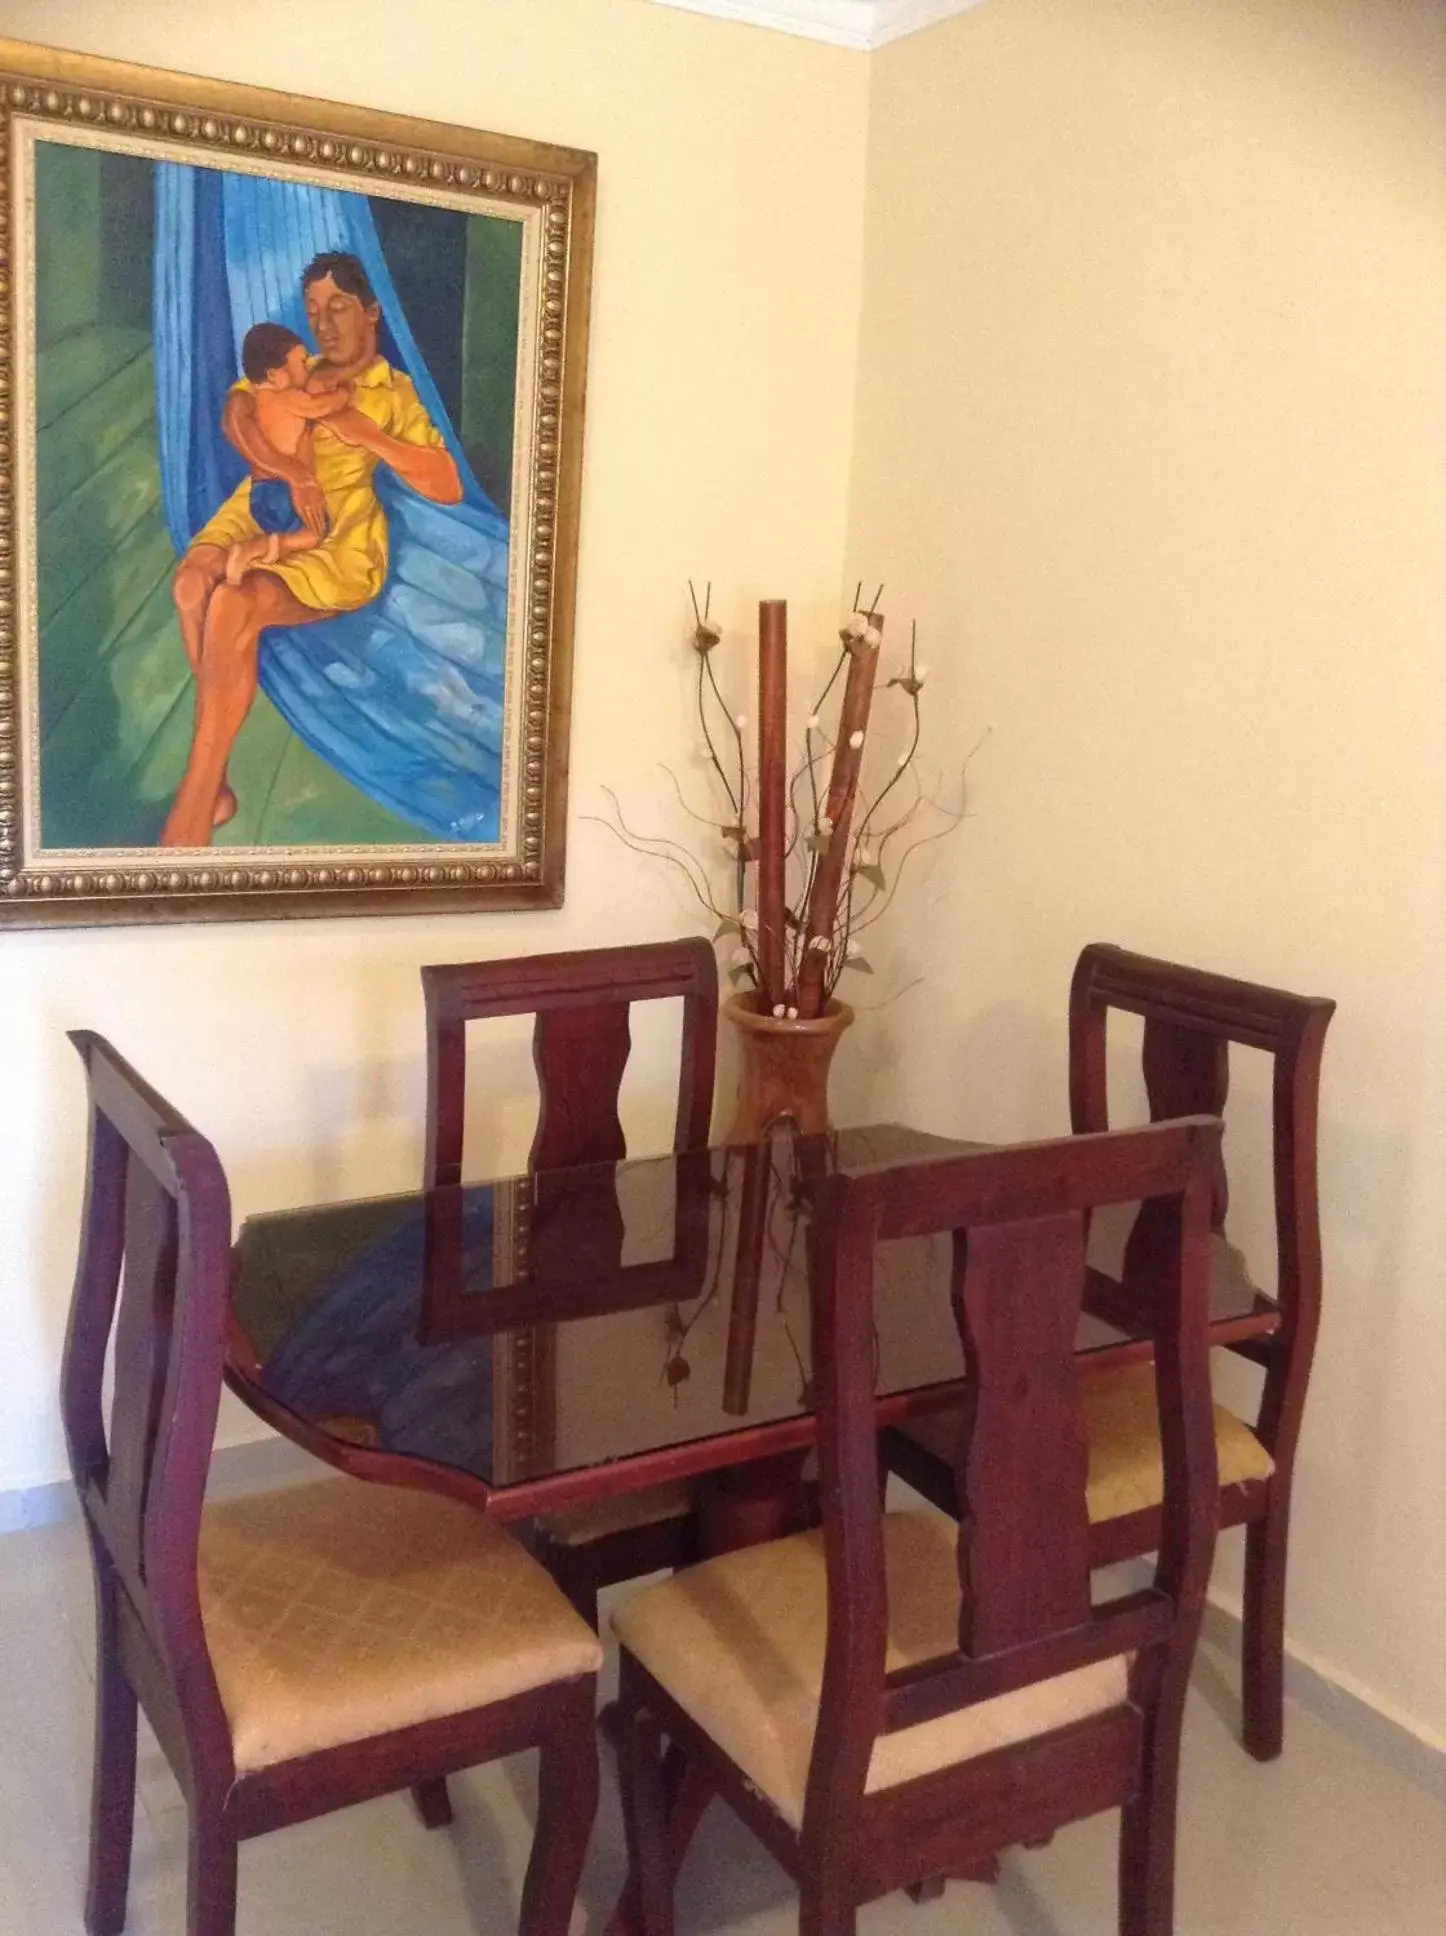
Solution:
M 254 565 L 226 585 L 226 550 L 259 534 L 248 476 L 196 534 L 172 596 L 196 676 L 196 728 L 186 772 L 161 832 L 163 846 L 209 846 L 236 811 L 226 761 L 256 699 L 256 660 L 269 625 L 312 625 L 377 596 L 387 579 L 387 517 L 372 472 L 391 465 L 436 503 L 459 503 L 463 480 L 416 387 L 377 356 L 381 306 L 354 256 L 317 256 L 302 275 L 317 372 L 352 385 L 352 405 L 316 426 L 314 470 L 261 434 L 252 385 L 226 397 L 223 430 L 252 476 L 281 478 L 296 515 L 317 534 L 308 552 Z

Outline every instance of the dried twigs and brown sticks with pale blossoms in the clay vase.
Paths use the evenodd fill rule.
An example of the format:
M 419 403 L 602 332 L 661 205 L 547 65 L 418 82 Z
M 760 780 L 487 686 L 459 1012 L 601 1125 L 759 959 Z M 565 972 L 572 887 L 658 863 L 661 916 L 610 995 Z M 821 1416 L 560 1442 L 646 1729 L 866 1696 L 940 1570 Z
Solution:
M 950 832 L 964 817 L 941 807 L 919 780 L 919 693 L 927 668 L 910 633 L 908 662 L 883 683 L 879 654 L 883 587 L 840 625 L 838 654 L 803 726 L 803 749 L 788 757 L 788 606 L 759 604 L 757 761 L 749 761 L 747 716 L 734 712 L 714 672 L 722 627 L 712 620 L 712 587 L 693 598 L 691 647 L 697 658 L 701 759 L 726 811 L 699 811 L 678 786 L 685 811 L 712 829 L 720 848 L 705 858 L 676 840 L 627 827 L 614 798 L 618 832 L 633 852 L 679 867 L 703 908 L 716 918 L 714 939 L 732 943 L 728 972 L 757 989 L 763 1014 L 813 1018 L 825 1013 L 842 976 L 869 974 L 863 937 L 889 912 L 904 862 Z M 869 718 L 877 691 L 898 691 L 908 707 L 904 747 L 883 778 L 865 784 Z M 836 705 L 832 726 L 825 709 Z M 929 825 L 927 815 L 933 815 Z M 722 881 L 714 856 L 726 863 Z

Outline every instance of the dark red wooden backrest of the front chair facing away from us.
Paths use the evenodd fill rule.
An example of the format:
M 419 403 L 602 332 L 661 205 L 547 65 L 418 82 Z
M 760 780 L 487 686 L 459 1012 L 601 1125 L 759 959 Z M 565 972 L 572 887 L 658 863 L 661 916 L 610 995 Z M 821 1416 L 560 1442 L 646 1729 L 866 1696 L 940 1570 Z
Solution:
M 809 1270 L 828 1644 L 805 1837 L 858 1806 L 879 1735 L 1092 1661 L 1194 1646 L 1218 1518 L 1206 1347 L 1218 1148 L 1220 1123 L 1190 1117 L 844 1171 L 819 1187 Z M 1175 1229 L 1173 1295 L 1158 1303 L 1156 1336 L 1161 1545 L 1150 1589 L 1094 1607 L 1074 1334 L 1088 1214 L 1134 1198 L 1167 1204 Z M 958 1649 L 887 1673 L 873 1256 L 881 1241 L 929 1233 L 954 1239 L 964 1593 Z

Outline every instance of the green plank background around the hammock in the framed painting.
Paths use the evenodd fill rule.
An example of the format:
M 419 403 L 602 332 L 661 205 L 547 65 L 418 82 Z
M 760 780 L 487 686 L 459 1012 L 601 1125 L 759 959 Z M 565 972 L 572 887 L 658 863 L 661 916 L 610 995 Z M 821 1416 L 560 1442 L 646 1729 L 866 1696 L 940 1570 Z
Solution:
M 194 687 L 161 509 L 151 356 L 153 165 L 35 151 L 41 838 L 151 846 L 186 763 Z M 521 227 L 372 199 L 387 265 L 472 470 L 509 511 Z M 265 693 L 230 759 L 217 846 L 432 844 Z

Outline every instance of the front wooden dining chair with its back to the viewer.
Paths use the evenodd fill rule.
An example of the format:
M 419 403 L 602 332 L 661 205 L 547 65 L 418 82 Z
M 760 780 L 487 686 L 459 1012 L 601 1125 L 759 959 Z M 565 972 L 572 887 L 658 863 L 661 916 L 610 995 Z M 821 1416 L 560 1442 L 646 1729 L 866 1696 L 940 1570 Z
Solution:
M 699 1781 L 796 1876 L 805 1936 L 846 1936 L 859 1903 L 978 1872 L 1105 1808 L 1123 1808 L 1119 1926 L 1167 1936 L 1181 1715 L 1216 1531 L 1218 1148 L 1220 1125 L 1196 1117 L 821 1185 L 809 1274 L 823 1531 L 707 1560 L 614 1615 L 647 1936 L 672 1930 L 681 1808 L 668 1808 Z M 1094 1605 L 1074 1357 L 1086 1216 L 1136 1196 L 1169 1227 L 1161 1543 L 1150 1588 Z M 875 1247 L 923 1233 L 954 1233 L 970 1388 L 958 1524 L 885 1512 L 877 1483 Z

